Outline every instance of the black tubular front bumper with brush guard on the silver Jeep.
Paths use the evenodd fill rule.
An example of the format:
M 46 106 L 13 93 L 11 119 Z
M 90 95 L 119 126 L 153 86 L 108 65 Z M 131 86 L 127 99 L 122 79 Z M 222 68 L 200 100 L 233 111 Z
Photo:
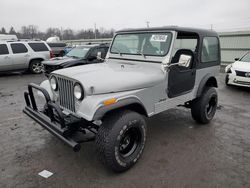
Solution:
M 45 97 L 46 104 L 42 111 L 37 108 L 33 89 L 40 91 Z M 94 140 L 94 136 L 79 139 L 79 137 L 76 137 L 76 133 L 86 134 L 86 129 L 96 129 L 96 125 L 72 114 L 65 115 L 62 109 L 51 101 L 48 92 L 44 88 L 31 83 L 28 85 L 28 91 L 24 92 L 24 98 L 26 107 L 23 112 L 65 144 L 72 147 L 74 151 L 81 149 L 80 143 Z M 94 131 L 91 132 L 95 133 Z

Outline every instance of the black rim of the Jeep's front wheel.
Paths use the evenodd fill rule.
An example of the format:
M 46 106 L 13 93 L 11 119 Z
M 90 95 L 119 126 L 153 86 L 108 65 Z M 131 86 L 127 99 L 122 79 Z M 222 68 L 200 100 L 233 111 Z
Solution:
M 129 128 L 121 137 L 119 154 L 123 158 L 130 157 L 141 144 L 141 131 L 139 128 Z

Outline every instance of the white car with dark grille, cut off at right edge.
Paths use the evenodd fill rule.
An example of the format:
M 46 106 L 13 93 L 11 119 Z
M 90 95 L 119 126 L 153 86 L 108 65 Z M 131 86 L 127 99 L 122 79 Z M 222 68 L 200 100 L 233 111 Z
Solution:
M 235 62 L 225 68 L 226 85 L 250 87 L 250 52 L 241 58 L 235 58 Z

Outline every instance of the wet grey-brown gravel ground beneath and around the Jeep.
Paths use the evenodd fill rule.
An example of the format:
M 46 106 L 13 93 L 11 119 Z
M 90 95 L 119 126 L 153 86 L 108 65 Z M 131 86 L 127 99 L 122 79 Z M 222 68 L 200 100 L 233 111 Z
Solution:
M 148 119 L 142 158 L 114 174 L 94 143 L 74 153 L 22 113 L 23 91 L 43 75 L 0 76 L 0 187 L 250 187 L 250 89 L 226 87 L 223 78 L 209 125 L 197 125 L 184 108 Z M 53 176 L 38 176 L 44 169 Z

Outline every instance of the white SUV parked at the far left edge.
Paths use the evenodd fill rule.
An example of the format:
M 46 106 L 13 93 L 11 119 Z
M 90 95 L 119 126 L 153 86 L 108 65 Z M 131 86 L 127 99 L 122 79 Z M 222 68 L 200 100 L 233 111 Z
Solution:
M 30 70 L 39 74 L 41 62 L 52 57 L 44 41 L 0 41 L 0 72 Z

